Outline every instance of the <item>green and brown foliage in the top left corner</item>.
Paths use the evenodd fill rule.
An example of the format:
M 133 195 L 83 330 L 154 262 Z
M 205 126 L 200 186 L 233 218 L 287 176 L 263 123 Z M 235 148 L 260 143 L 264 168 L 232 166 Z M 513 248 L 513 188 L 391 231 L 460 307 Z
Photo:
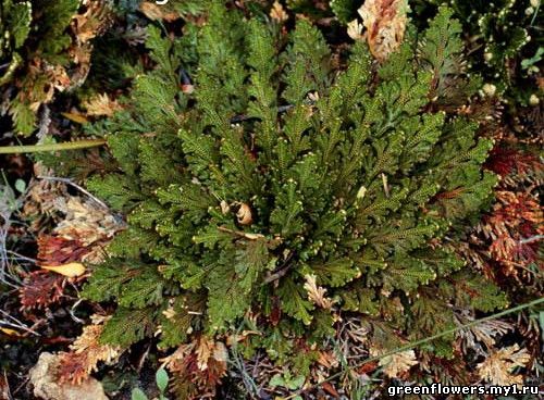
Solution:
M 73 39 L 67 28 L 78 8 L 78 0 L 2 0 L 0 4 L 0 88 L 17 87 L 13 99 L 4 97 L 17 133 L 34 130 L 37 108 L 50 101 L 52 86 L 60 85 L 55 80 L 64 78 L 59 68 L 70 64 L 67 49 Z

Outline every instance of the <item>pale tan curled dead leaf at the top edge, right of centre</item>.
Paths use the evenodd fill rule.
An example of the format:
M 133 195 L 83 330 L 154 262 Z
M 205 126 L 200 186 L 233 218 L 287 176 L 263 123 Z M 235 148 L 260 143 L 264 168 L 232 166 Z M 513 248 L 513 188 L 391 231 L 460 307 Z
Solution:
M 367 0 L 358 10 L 366 27 L 370 51 L 383 62 L 403 42 L 408 12 L 407 0 Z M 348 34 L 355 40 L 362 39 L 362 28 L 353 21 Z

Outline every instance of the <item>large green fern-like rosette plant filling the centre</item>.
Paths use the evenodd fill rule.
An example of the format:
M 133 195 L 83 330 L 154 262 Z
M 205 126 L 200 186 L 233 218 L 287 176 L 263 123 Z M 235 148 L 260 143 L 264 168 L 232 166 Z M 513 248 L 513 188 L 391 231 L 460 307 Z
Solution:
M 219 2 L 190 46 L 150 28 L 156 68 L 103 132 L 115 172 L 87 183 L 128 221 L 84 291 L 119 304 L 102 340 L 128 346 L 160 325 L 168 347 L 252 324 L 242 353 L 295 363 L 294 338 L 321 342 L 338 313 L 371 315 L 391 349 L 395 332 L 450 327 L 457 301 L 502 305 L 493 288 L 480 300 L 453 288 L 462 263 L 441 245 L 495 183 L 481 168 L 491 141 L 433 107 L 478 86 L 457 67 L 450 15 L 441 9 L 378 72 L 364 43 L 335 72 L 308 21 L 286 38 Z M 177 89 L 180 66 L 195 93 Z M 332 307 L 308 296 L 310 275 Z M 448 355 L 448 343 L 429 350 Z

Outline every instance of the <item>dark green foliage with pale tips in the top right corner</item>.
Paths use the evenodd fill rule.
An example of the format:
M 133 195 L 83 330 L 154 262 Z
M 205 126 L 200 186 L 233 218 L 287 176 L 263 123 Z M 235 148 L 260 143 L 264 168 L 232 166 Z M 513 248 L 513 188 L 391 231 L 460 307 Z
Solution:
M 532 95 L 542 99 L 536 63 L 542 57 L 542 1 L 540 0 L 416 0 L 412 16 L 419 21 L 440 4 L 448 4 L 471 39 L 469 61 L 497 92 L 527 105 Z

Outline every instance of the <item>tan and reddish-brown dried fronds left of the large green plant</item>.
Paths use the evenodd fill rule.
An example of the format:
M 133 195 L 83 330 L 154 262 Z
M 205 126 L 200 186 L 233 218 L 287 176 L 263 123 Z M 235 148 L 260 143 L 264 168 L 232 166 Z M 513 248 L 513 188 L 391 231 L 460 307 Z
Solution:
M 63 183 L 40 179 L 28 190 L 24 213 L 34 217 L 38 265 L 41 271 L 25 278 L 18 291 L 23 310 L 41 309 L 60 301 L 64 277 L 85 272 L 82 262 L 103 260 L 103 247 L 122 228 L 103 205 L 67 192 Z M 45 225 L 53 222 L 52 229 Z M 47 271 L 50 270 L 50 271 Z

